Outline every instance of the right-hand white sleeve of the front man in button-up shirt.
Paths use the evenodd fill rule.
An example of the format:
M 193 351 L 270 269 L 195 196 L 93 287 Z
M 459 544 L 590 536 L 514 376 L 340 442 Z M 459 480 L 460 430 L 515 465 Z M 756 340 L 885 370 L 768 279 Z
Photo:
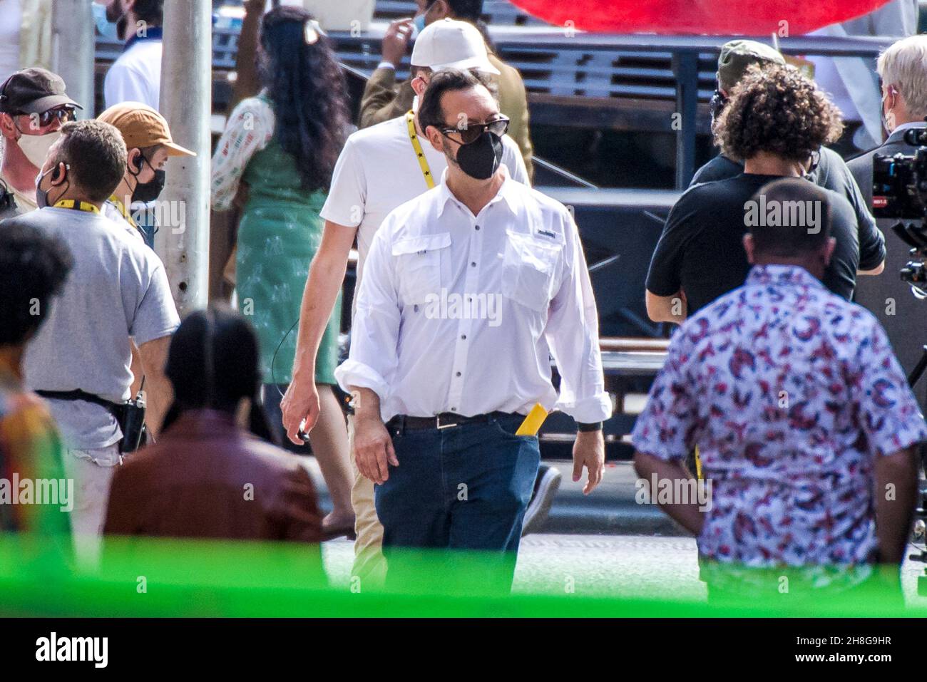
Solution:
M 599 314 L 576 223 L 564 210 L 565 272 L 551 302 L 546 336 L 560 373 L 556 409 L 577 422 L 603 422 L 612 414 L 599 349 Z

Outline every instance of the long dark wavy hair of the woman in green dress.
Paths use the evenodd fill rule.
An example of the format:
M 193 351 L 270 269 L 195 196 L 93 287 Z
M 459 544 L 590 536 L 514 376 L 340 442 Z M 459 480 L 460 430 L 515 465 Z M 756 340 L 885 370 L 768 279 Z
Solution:
M 306 42 L 312 15 L 280 6 L 260 23 L 260 82 L 276 117 L 274 134 L 296 159 L 302 188 L 327 190 L 348 132 L 348 91 L 332 45 L 323 34 Z

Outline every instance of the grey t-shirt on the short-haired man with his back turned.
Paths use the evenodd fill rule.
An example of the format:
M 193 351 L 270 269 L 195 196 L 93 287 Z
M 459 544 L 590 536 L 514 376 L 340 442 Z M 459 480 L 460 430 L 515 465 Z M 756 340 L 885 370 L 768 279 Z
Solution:
M 141 346 L 171 335 L 180 324 L 161 260 L 121 224 L 95 213 L 42 208 L 19 220 L 54 235 L 74 259 L 61 296 L 26 351 L 26 385 L 80 388 L 114 402 L 129 398 L 129 337 Z M 106 448 L 122 437 L 102 406 L 48 403 L 69 448 Z

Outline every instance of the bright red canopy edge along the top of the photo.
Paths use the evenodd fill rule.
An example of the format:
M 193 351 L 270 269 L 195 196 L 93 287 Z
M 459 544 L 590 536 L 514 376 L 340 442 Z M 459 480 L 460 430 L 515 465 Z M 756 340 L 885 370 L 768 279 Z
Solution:
M 889 0 L 512 0 L 555 26 L 590 32 L 801 35 Z M 572 22 L 572 23 L 570 23 Z

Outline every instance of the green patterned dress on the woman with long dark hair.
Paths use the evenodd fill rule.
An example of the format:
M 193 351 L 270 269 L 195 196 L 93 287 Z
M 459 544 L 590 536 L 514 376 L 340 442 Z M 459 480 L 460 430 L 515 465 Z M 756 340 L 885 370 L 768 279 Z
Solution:
M 248 316 L 260 338 L 264 382 L 289 384 L 298 329 L 293 325 L 299 319 L 309 265 L 322 242 L 324 221 L 319 212 L 325 193 L 310 194 L 300 188 L 296 162 L 276 137 L 250 158 L 242 179 L 249 192 L 238 225 L 238 309 Z M 317 384 L 337 383 L 340 321 L 338 294 L 315 363 Z

